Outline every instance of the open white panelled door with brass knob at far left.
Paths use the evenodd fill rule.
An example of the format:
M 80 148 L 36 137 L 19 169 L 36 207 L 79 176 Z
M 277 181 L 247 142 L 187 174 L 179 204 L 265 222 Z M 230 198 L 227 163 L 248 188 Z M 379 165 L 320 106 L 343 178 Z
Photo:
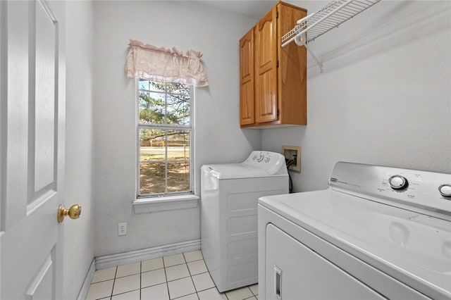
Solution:
M 63 299 L 64 2 L 0 1 L 0 299 Z

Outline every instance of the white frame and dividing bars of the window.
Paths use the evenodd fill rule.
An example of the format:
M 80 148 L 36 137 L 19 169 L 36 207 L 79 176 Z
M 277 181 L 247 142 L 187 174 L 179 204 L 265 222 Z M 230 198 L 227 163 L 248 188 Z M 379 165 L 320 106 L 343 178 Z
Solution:
M 148 80 L 148 81 L 154 81 L 157 82 L 156 80 Z M 171 82 L 164 82 L 165 85 Z M 144 91 L 144 92 L 155 92 L 155 91 L 149 91 L 149 90 L 142 90 L 140 89 L 140 79 L 137 78 L 135 80 L 135 132 L 136 132 L 136 141 L 135 141 L 135 147 L 136 147 L 136 161 L 135 161 L 135 168 L 136 168 L 136 187 L 135 187 L 135 194 L 136 194 L 136 199 L 137 201 L 135 201 L 134 204 L 140 204 L 142 203 L 142 201 L 140 201 L 140 199 L 145 200 L 145 199 L 152 199 L 152 198 L 157 198 L 157 199 L 161 199 L 163 197 L 167 198 L 167 199 L 171 199 L 171 201 L 177 200 L 177 199 L 191 199 L 190 195 L 194 195 L 194 86 L 193 85 L 187 85 L 190 87 L 190 125 L 170 125 L 170 124 L 145 124 L 145 123 L 140 123 L 140 92 Z M 166 87 L 165 87 L 165 92 L 161 92 L 162 94 L 165 95 L 165 99 L 167 95 L 171 95 L 171 93 L 167 93 L 166 92 Z M 166 101 L 165 101 L 165 106 L 167 106 Z M 162 192 L 162 193 L 154 193 L 154 194 L 140 194 L 140 130 L 142 129 L 157 129 L 157 130 L 185 130 L 190 132 L 190 187 L 189 190 L 187 191 L 183 191 L 183 192 L 168 192 L 168 178 L 167 178 L 167 164 L 168 164 L 168 160 L 165 159 L 164 163 L 165 163 L 165 191 L 166 192 Z M 167 137 L 166 137 L 166 141 L 167 141 Z M 168 149 L 167 149 L 167 143 L 165 143 L 165 153 L 166 153 L 166 157 L 168 154 Z M 187 197 L 185 197 L 187 196 Z M 197 197 L 196 197 L 197 198 Z M 136 210 L 136 208 L 135 208 Z

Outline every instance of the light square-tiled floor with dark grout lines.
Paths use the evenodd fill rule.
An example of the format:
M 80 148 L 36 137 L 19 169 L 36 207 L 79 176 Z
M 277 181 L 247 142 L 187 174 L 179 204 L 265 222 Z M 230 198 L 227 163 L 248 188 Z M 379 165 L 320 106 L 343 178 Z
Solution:
M 87 300 L 257 300 L 258 285 L 219 293 L 200 250 L 97 270 Z

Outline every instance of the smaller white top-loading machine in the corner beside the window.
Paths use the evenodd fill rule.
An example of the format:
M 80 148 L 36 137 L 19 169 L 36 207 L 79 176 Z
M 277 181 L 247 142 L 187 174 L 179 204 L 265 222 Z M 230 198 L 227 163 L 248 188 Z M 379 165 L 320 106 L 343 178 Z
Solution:
M 219 292 L 257 283 L 257 203 L 287 194 L 285 157 L 253 151 L 243 163 L 201 169 L 201 247 Z

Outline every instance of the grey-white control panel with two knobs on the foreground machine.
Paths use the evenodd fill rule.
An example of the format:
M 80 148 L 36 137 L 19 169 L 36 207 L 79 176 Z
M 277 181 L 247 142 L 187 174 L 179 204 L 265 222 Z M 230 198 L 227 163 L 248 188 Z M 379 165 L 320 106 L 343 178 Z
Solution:
M 373 201 L 391 201 L 451 218 L 451 174 L 338 162 L 328 184 Z

